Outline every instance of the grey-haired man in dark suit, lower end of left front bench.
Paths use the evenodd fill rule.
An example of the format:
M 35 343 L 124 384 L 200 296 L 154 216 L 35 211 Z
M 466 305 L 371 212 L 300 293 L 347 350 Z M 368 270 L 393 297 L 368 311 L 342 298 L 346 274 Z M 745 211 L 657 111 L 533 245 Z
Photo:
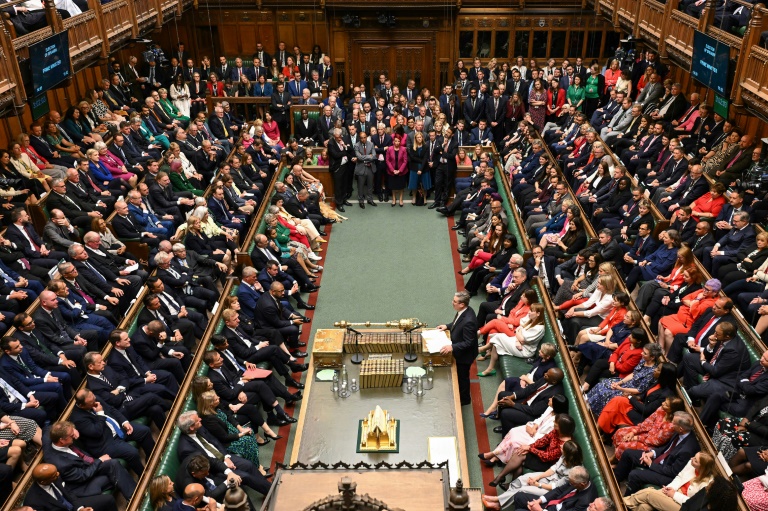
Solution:
M 176 423 L 181 430 L 176 451 L 179 460 L 193 454 L 204 454 L 214 473 L 232 471 L 242 481 L 242 485 L 262 495 L 269 492 L 270 483 L 259 473 L 258 468 L 244 458 L 227 454 L 224 446 L 203 427 L 196 411 L 182 413 Z

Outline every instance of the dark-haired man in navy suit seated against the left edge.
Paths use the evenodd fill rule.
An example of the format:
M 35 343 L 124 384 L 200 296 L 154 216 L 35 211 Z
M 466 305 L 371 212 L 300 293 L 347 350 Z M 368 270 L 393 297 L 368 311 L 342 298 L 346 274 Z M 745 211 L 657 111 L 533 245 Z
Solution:
M 46 371 L 24 352 L 21 341 L 13 337 L 3 337 L 0 340 L 0 367 L 12 375 L 17 381 L 37 392 L 51 392 L 59 396 L 59 408 L 63 409 L 72 397 L 72 380 L 69 373 L 62 371 Z

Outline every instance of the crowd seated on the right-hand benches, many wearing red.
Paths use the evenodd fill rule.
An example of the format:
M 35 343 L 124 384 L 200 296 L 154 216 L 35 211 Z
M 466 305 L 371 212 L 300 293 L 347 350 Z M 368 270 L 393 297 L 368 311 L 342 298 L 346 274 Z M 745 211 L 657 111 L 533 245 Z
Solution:
M 711 507 L 719 495 L 733 502 L 735 489 L 714 477 L 712 457 L 692 434 L 694 418 L 675 387 L 686 390 L 708 432 L 728 446 L 726 459 L 742 478 L 765 473 L 765 405 L 758 401 L 768 392 L 765 369 L 762 360 L 750 361 L 734 316 L 737 308 L 758 334 L 768 330 L 768 238 L 756 227 L 766 218 L 762 148 L 698 94 L 686 97 L 679 83 L 663 81 L 667 69 L 654 52 L 643 54 L 632 73 L 615 62 L 602 72 L 597 64 L 580 66 L 583 95 L 569 61 L 552 59 L 544 69 L 535 62 L 521 69 L 523 63 L 496 72 L 479 61 L 457 69 L 462 89 L 469 89 L 463 124 L 483 134 L 498 104 L 514 106 L 490 135 L 499 160 L 483 152 L 481 141 L 479 156 L 468 162 L 471 177 L 456 180 L 453 201 L 438 205 L 455 218 L 458 251 L 469 263 L 459 272 L 469 277 L 466 291 L 485 293 L 478 341 L 480 360 L 490 364 L 478 376 L 497 374 L 502 356 L 532 364 L 529 374 L 507 375 L 482 414 L 501 422 L 494 431 L 503 439 L 480 458 L 505 467 L 491 484 L 505 493 L 485 504 L 524 508 L 518 492 L 541 482 L 542 492 L 551 489 L 553 478 L 562 484 L 576 464 L 566 450 L 570 432 L 558 426 L 557 414 L 568 412 L 567 403 L 556 406 L 563 375 L 557 378 L 540 344 L 543 308 L 530 289 L 533 277 L 558 315 L 583 399 L 615 447 L 611 462 L 625 505 L 679 509 L 698 499 Z M 485 83 L 489 71 L 495 81 Z M 467 118 L 470 112 L 477 117 Z M 510 234 L 515 219 L 502 207 L 494 169 L 503 172 L 520 234 L 532 247 L 525 259 Z M 596 236 L 591 244 L 589 230 Z M 733 418 L 718 422 L 721 412 Z M 504 476 L 526 467 L 532 477 L 505 484 Z M 763 483 L 751 487 L 751 503 L 764 503 Z

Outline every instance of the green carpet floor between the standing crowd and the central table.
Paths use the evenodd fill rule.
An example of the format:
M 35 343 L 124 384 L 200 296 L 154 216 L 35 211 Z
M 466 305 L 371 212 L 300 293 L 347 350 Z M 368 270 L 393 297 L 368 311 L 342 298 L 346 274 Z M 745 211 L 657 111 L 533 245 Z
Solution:
M 332 228 L 310 340 L 318 328 L 333 328 L 339 320 L 417 317 L 435 326 L 453 315 L 456 270 L 445 217 L 408 202 L 402 208 L 377 204 L 365 210 L 348 207 L 349 220 Z M 477 442 L 469 406 L 464 407 L 464 433 L 471 484 L 482 485 L 479 467 L 471 461 Z M 289 440 L 286 460 L 294 447 Z

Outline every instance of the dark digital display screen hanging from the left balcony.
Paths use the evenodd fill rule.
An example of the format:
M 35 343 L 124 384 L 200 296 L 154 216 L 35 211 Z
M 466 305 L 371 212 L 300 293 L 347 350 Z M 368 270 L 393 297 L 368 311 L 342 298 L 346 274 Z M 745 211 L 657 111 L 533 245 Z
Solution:
M 72 76 L 69 61 L 69 33 L 55 34 L 29 47 L 32 96 L 53 89 Z

